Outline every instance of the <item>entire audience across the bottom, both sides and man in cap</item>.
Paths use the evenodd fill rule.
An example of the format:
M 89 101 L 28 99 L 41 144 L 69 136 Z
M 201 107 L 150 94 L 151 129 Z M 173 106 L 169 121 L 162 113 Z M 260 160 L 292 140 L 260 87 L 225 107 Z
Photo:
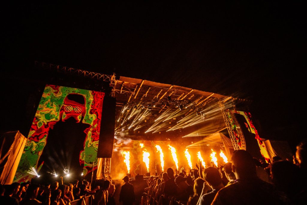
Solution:
M 189 173 L 168 168 L 159 176 L 147 179 L 140 205 L 206 205 L 206 204 L 305 204 L 306 145 L 297 145 L 293 161 L 279 156 L 271 163 L 261 163 L 245 150 L 232 153 L 231 163 L 204 168 L 201 162 Z M 122 205 L 135 204 L 134 186 L 125 176 L 119 194 Z M 96 186 L 97 185 L 97 186 Z M 91 187 L 89 181 L 0 184 L 0 203 L 13 205 L 68 205 L 93 196 L 92 205 L 115 205 L 115 185 L 111 177 Z

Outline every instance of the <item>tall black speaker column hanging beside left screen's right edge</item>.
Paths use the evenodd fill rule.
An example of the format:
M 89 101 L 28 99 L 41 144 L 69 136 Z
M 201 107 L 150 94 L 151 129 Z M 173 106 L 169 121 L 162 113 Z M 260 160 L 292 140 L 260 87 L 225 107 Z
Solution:
M 115 132 L 115 108 L 115 97 L 105 96 L 103 98 L 100 135 L 97 150 L 98 158 L 112 157 Z

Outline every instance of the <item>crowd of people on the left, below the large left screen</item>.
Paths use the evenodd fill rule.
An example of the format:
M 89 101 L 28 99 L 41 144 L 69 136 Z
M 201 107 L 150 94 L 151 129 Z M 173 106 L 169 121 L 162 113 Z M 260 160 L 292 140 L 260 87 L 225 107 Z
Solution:
M 115 185 L 111 177 L 104 180 L 102 186 L 91 187 L 91 182 L 74 180 L 71 183 L 45 183 L 43 185 L 32 182 L 0 184 L 0 204 L 5 205 L 68 205 L 70 202 L 86 196 L 95 196 L 91 204 L 115 205 Z

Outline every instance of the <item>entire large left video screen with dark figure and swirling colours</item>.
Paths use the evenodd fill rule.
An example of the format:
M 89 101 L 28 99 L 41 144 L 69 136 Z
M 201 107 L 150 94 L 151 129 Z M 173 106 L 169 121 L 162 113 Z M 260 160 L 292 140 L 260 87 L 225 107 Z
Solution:
M 95 170 L 104 95 L 46 85 L 14 181 L 28 181 L 43 170 L 50 176 Z

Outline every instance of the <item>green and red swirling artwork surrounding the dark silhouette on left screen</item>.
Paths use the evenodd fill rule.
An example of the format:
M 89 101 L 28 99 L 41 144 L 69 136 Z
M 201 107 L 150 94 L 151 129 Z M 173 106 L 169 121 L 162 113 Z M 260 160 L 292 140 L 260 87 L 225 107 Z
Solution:
M 39 160 L 48 143 L 49 131 L 58 122 L 64 122 L 70 118 L 75 119 L 76 123 L 86 126 L 83 130 L 85 139 L 80 142 L 83 144 L 83 150 L 79 154 L 79 164 L 83 167 L 83 174 L 90 173 L 93 167 L 96 169 L 104 95 L 105 93 L 98 91 L 46 85 L 29 131 L 14 182 L 25 182 L 32 179 L 34 175 L 28 173 L 30 169 L 35 168 L 37 172 L 40 171 L 44 161 L 39 163 Z M 82 101 L 73 100 L 76 97 Z M 73 142 L 73 136 L 69 137 Z

